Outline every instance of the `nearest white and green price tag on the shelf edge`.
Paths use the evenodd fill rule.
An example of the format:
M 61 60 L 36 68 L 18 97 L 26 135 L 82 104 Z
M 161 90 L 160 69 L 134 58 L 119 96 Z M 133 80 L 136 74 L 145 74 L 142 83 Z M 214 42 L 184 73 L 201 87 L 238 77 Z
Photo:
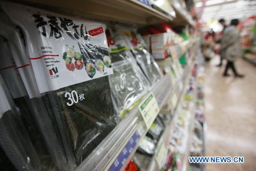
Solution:
M 143 117 L 143 120 L 145 121 L 147 128 L 149 129 L 160 111 L 153 92 L 148 94 L 148 96 L 143 100 L 143 102 L 140 103 L 139 110 Z

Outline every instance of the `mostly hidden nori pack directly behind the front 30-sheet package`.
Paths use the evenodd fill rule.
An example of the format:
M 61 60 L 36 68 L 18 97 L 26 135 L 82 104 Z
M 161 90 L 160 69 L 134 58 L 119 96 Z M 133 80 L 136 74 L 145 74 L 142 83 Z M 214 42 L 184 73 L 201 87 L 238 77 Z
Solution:
M 39 94 L 35 75 L 27 58 L 26 48 L 23 44 L 24 41 L 21 38 L 24 37 L 23 31 L 10 23 L 6 19 L 5 14 L 2 16 L 1 22 L 3 27 L 0 29 L 0 34 L 3 34 L 8 39 L 15 64 L 17 66 L 25 66 L 18 69 L 18 71 L 26 91 L 30 95 L 38 96 L 31 99 L 27 98 L 29 100 L 26 100 L 26 103 L 29 104 L 29 110 L 32 111 L 35 123 L 54 162 L 53 165 L 57 165 L 60 170 L 73 170 L 76 166 L 75 159 L 73 155 L 67 155 L 72 153 L 72 151 L 71 148 L 69 149 L 70 145 L 65 142 L 66 139 L 61 137 L 49 98 L 47 94 Z

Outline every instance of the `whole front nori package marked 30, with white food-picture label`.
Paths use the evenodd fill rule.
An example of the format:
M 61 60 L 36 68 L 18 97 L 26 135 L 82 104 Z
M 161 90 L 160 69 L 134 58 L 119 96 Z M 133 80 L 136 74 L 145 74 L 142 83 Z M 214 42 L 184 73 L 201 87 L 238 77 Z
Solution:
M 49 153 L 59 169 L 74 170 L 115 126 L 104 77 L 113 73 L 105 26 L 15 3 L 1 6 L 24 32 L 26 48 L 7 39 L 23 51 L 20 75 Z

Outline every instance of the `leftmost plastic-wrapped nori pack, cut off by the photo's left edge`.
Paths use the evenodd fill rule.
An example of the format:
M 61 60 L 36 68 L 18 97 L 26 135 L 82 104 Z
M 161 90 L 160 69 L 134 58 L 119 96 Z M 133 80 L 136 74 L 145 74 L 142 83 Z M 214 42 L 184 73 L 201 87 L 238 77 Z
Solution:
M 19 171 L 40 171 L 41 164 L 11 94 L 0 77 L 0 145 Z

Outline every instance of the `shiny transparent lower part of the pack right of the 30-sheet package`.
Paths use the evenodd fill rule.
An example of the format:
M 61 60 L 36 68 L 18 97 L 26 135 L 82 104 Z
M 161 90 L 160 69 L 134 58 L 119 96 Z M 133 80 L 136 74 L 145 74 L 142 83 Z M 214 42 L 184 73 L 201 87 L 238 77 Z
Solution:
M 147 92 L 148 80 L 136 65 L 132 60 L 112 64 L 114 74 L 109 76 L 109 80 L 116 113 L 121 118 Z

